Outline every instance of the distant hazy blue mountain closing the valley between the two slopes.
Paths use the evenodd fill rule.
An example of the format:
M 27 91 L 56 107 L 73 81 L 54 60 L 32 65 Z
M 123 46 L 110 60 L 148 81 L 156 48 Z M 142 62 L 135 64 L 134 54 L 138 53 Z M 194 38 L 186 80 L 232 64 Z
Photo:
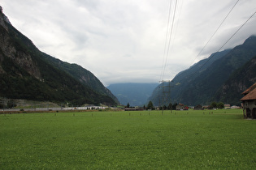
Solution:
M 116 83 L 107 88 L 117 97 L 120 104 L 143 106 L 157 86 L 158 83 Z

